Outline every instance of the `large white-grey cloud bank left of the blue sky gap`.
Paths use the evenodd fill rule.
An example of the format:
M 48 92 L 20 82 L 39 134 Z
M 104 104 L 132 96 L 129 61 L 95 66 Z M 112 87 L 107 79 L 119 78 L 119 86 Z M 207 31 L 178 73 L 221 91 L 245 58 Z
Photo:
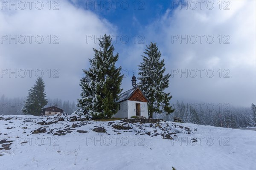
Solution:
M 116 28 L 93 12 L 75 7 L 68 1 L 58 1 L 59 10 L 49 10 L 47 2 L 44 1 L 42 10 L 36 8 L 32 10 L 3 8 L 1 10 L 1 35 L 12 37 L 25 35 L 27 38 L 24 44 L 19 41 L 15 44 L 14 40 L 11 43 L 6 40 L 0 44 L 1 69 L 8 69 L 8 71 L 17 69 L 17 72 L 20 69 L 42 69 L 47 97 L 75 100 L 81 91 L 79 80 L 83 76 L 82 69 L 89 66 L 88 58 L 94 55 L 92 48 L 98 46 L 98 41 L 87 42 L 87 35 L 93 35 L 93 37 L 96 35 L 99 38 L 105 33 L 114 34 Z M 34 35 L 31 44 L 27 35 Z M 44 38 L 43 43 L 35 42 L 37 35 Z M 51 35 L 50 44 L 49 35 Z M 53 37 L 54 35 L 57 36 Z M 59 44 L 53 44 L 54 40 Z M 47 72 L 49 69 L 51 69 L 51 78 Z M 59 78 L 52 78 L 57 73 L 57 71 L 53 72 L 53 69 L 59 70 Z M 29 78 L 29 71 L 26 73 L 25 78 L 20 78 L 19 75 L 15 78 L 14 74 L 11 78 L 8 74 L 3 75 L 1 94 L 8 97 L 26 96 L 37 79 L 35 71 L 32 72 L 31 78 Z

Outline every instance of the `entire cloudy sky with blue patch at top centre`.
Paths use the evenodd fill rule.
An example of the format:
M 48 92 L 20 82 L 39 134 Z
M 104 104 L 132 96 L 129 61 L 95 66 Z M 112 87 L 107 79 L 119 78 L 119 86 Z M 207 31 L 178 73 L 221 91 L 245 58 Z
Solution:
M 43 77 L 49 98 L 76 100 L 82 69 L 104 34 L 130 89 L 156 42 L 178 100 L 256 102 L 256 1 L 0 1 L 0 95 L 27 96 Z

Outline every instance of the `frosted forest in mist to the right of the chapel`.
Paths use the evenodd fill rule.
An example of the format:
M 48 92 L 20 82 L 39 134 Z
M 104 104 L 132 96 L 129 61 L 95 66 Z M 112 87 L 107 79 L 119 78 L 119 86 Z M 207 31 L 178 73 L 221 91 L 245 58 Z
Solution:
M 199 105 L 200 104 L 200 105 Z M 213 105 L 203 103 L 183 103 L 177 101 L 172 104 L 175 111 L 170 114 L 154 114 L 154 118 L 173 121 L 179 117 L 183 122 L 219 127 L 256 127 L 256 107 L 232 107 L 228 103 Z

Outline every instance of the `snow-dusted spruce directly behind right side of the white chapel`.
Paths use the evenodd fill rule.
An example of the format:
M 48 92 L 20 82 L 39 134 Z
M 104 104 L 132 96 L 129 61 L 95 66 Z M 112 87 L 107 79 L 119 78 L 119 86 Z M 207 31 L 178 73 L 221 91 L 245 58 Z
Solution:
M 161 52 L 158 51 L 156 43 L 150 43 L 146 46 L 143 56 L 143 62 L 139 65 L 140 80 L 139 86 L 146 97 L 149 99 L 148 115 L 152 118 L 153 113 L 170 114 L 174 111 L 170 106 L 169 100 L 172 98 L 170 93 L 164 90 L 169 86 L 170 74 L 164 75 L 164 59 L 160 60 Z

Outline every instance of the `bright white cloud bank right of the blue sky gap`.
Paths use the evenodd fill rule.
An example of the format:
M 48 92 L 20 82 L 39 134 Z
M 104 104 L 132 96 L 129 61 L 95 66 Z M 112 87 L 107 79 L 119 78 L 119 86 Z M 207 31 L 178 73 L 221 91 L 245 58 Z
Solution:
M 256 2 L 228 1 L 230 10 L 223 10 L 227 6 L 225 1 L 221 1 L 221 10 L 217 4 L 219 1 L 212 2 L 215 4 L 212 10 L 204 5 L 202 10 L 199 6 L 195 10 L 167 10 L 146 27 L 146 41 L 157 42 L 166 61 L 166 72 L 172 73 L 172 69 L 214 71 L 212 78 L 208 78 L 205 71 L 202 78 L 199 76 L 200 71 L 196 78 L 189 75 L 186 78 L 185 74 L 181 75 L 182 78 L 179 74 L 174 75 L 168 89 L 174 96 L 172 102 L 176 99 L 191 99 L 249 106 L 251 102 L 256 102 Z M 188 43 L 186 40 L 180 43 L 180 37 L 172 43 L 176 35 L 182 38 L 187 35 Z M 193 35 L 197 37 L 195 44 L 191 43 L 194 41 Z M 202 43 L 199 35 L 204 35 Z M 207 43 L 207 35 L 214 37 L 212 44 Z M 190 41 L 189 36 L 192 36 Z M 230 43 L 224 44 L 225 40 Z M 230 78 L 223 78 L 224 75 Z

